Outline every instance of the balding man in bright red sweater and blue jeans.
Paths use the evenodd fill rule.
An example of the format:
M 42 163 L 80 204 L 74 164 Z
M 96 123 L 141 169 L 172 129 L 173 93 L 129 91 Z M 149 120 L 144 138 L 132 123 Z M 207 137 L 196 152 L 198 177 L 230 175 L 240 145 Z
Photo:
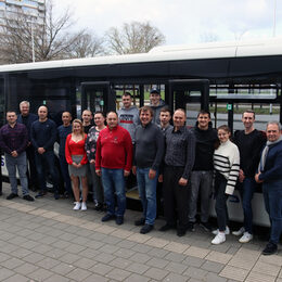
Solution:
M 132 164 L 132 141 L 129 132 L 118 125 L 118 116 L 110 112 L 107 127 L 100 131 L 97 140 L 95 172 L 102 176 L 107 213 L 102 221 L 116 219 L 124 223 L 126 210 L 125 177 L 129 176 Z M 115 208 L 115 195 L 117 208 Z

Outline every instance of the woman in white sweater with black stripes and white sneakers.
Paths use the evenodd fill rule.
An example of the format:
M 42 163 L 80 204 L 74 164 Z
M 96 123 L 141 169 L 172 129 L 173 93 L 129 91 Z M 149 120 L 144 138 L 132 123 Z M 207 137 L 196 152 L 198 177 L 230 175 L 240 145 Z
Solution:
M 240 154 L 238 146 L 230 141 L 231 131 L 223 125 L 217 129 L 219 144 L 214 153 L 215 196 L 218 230 L 211 244 L 218 245 L 226 241 L 229 234 L 227 200 L 233 194 L 240 170 Z

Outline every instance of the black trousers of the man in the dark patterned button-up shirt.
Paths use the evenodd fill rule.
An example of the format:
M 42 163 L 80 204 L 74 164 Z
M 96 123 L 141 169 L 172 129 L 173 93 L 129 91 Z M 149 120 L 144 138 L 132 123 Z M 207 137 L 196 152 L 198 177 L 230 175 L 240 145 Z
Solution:
M 178 229 L 185 229 L 188 226 L 188 185 L 179 185 L 178 181 L 182 177 L 183 167 L 166 166 L 164 170 L 164 215 L 167 225 L 177 223 Z

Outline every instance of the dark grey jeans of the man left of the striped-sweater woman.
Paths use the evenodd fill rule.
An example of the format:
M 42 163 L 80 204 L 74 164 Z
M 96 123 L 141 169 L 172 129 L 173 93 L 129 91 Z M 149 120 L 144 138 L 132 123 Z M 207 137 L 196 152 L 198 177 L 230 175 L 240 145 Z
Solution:
M 196 206 L 201 196 L 201 221 L 207 222 L 209 217 L 209 202 L 211 196 L 214 171 L 192 171 L 189 197 L 189 221 L 196 221 Z

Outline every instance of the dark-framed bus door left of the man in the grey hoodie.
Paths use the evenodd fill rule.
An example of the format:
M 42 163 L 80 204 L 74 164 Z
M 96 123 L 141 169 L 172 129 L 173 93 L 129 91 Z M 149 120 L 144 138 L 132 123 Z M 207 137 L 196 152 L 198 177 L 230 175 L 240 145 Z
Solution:
M 116 95 L 108 81 L 81 84 L 81 114 L 84 110 L 92 113 L 116 111 Z

